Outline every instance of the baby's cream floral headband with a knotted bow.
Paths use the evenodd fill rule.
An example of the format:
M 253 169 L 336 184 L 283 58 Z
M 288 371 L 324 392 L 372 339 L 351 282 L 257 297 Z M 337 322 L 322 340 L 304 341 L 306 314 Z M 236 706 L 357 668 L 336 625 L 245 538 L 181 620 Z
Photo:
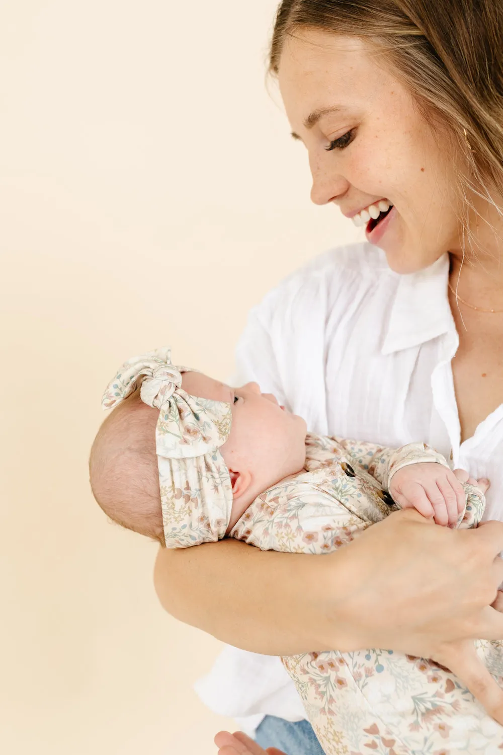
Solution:
M 171 364 L 169 349 L 124 362 L 103 394 L 110 409 L 140 390 L 159 409 L 155 428 L 166 547 L 183 548 L 225 536 L 232 510 L 232 483 L 219 451 L 231 431 L 231 405 L 198 399 L 182 390 L 188 368 Z

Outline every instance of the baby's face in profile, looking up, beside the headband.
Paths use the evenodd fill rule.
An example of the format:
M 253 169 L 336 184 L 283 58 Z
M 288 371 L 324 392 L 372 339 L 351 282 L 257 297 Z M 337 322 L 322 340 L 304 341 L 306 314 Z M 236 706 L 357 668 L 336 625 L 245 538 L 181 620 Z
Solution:
M 261 393 L 256 383 L 231 388 L 198 372 L 182 374 L 182 389 L 231 404 L 231 434 L 220 448 L 229 470 L 246 467 L 262 490 L 302 470 L 305 421 L 280 406 L 271 393 Z

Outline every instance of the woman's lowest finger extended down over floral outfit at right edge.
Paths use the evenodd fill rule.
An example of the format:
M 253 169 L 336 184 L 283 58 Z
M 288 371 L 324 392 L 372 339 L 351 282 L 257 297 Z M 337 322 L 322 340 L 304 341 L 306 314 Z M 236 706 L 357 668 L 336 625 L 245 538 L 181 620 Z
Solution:
M 449 668 L 481 705 L 503 725 L 503 689 L 492 678 L 471 640 L 452 643 L 434 660 Z

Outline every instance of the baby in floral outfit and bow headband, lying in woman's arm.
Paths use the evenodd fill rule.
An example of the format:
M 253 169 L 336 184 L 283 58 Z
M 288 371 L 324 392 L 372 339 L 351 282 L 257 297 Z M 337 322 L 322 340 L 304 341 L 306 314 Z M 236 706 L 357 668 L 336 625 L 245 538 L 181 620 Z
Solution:
M 126 362 L 103 405 L 116 408 L 91 451 L 95 498 L 115 522 L 166 547 L 229 536 L 323 554 L 400 508 L 462 527 L 483 514 L 476 481 L 465 475 L 463 486 L 423 443 L 392 449 L 308 434 L 256 384 L 231 388 L 176 368 L 167 350 Z M 500 684 L 501 644 L 476 643 Z M 327 755 L 489 753 L 503 743 L 503 728 L 433 661 L 370 649 L 283 662 Z

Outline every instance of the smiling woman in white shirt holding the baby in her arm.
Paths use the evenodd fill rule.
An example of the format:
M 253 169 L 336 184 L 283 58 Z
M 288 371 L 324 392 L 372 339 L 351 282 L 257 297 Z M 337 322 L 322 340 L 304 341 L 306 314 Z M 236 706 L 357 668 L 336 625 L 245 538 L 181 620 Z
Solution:
M 271 71 L 311 198 L 366 224 L 370 243 L 291 276 L 238 348 L 240 377 L 311 430 L 422 439 L 488 477 L 486 519 L 500 520 L 502 32 L 497 0 L 281 3 Z M 162 550 L 155 585 L 171 614 L 256 653 L 381 647 L 441 662 L 503 637 L 502 549 L 501 522 L 451 532 L 400 512 L 323 559 L 235 541 Z M 201 695 L 249 716 L 264 747 L 321 753 L 276 658 L 228 650 Z M 254 752 L 243 741 L 219 744 Z

